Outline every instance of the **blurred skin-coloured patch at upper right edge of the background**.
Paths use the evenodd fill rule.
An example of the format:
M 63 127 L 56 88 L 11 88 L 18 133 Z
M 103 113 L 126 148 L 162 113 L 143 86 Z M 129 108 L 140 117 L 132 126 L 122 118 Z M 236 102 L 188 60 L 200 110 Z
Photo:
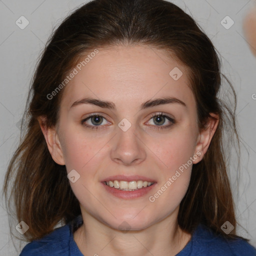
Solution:
M 250 49 L 256 57 L 256 6 L 246 15 L 243 29 Z

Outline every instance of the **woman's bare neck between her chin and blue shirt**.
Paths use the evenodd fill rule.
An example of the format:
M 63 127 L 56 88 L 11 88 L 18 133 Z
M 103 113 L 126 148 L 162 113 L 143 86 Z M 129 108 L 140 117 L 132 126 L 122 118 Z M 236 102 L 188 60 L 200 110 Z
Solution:
M 126 231 L 114 229 L 81 211 L 83 224 L 74 232 L 74 240 L 85 256 L 174 256 L 191 238 L 177 224 L 178 209 L 145 229 Z

